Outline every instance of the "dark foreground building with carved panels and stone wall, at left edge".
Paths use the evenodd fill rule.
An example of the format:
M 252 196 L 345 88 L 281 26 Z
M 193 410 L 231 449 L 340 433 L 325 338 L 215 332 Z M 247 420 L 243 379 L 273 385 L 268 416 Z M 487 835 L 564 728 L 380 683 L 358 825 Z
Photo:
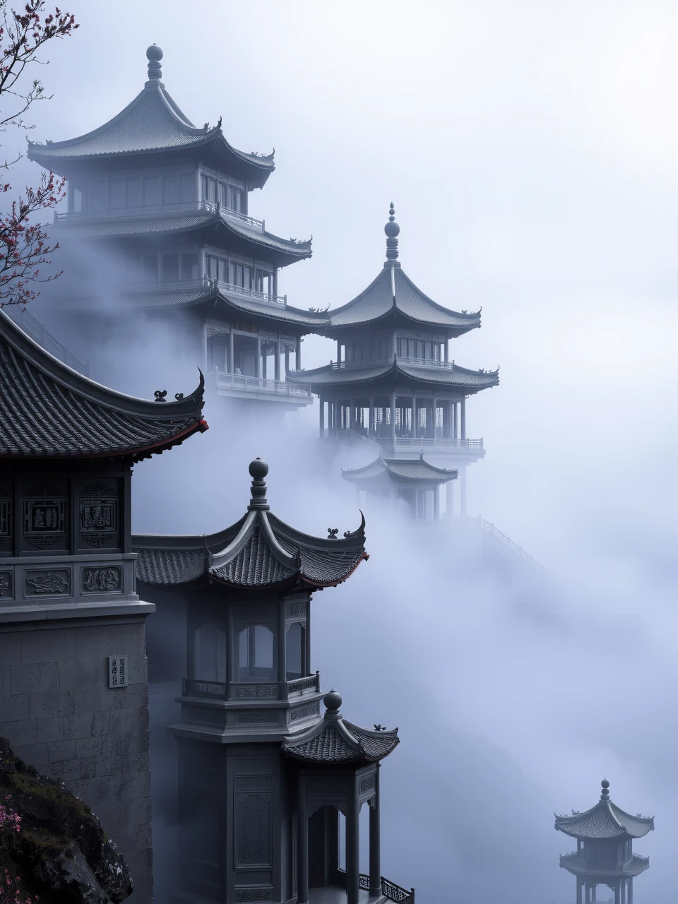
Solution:
M 165 401 L 107 389 L 0 311 L 0 735 L 92 807 L 153 900 L 146 617 L 132 466 L 207 429 L 202 377 Z

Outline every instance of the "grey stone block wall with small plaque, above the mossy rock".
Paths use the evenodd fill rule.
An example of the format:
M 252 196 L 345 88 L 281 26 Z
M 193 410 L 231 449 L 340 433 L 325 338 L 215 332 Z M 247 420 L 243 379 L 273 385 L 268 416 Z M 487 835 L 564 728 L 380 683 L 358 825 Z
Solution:
M 126 655 L 125 688 L 108 656 Z M 0 735 L 99 816 L 153 901 L 146 632 L 143 617 L 0 625 Z

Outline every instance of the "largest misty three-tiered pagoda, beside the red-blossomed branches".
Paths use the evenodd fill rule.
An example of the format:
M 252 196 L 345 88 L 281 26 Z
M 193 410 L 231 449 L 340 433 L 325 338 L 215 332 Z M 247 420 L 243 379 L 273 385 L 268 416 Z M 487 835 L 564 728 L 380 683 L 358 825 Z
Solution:
M 219 394 L 310 404 L 309 388 L 285 377 L 301 366 L 302 336 L 326 315 L 288 305 L 278 273 L 310 258 L 311 242 L 282 239 L 249 213 L 273 155 L 231 146 L 221 118 L 193 126 L 161 81 L 162 50 L 153 44 L 146 56 L 144 89 L 117 116 L 67 141 L 29 142 L 32 160 L 68 180 L 53 238 L 71 250 L 71 275 L 92 255 L 99 270 L 99 299 L 79 297 L 77 277 L 66 291 L 67 273 L 60 312 L 84 307 L 100 326 L 112 294 L 127 315 L 176 325 Z

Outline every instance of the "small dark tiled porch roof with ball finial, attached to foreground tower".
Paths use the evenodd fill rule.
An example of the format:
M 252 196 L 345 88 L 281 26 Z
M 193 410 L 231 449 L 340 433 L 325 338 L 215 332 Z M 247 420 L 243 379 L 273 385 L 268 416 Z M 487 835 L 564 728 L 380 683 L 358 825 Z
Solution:
M 337 696 L 328 694 L 328 697 Z M 337 696 L 339 705 L 341 698 Z M 369 730 L 344 720 L 341 712 L 325 711 L 325 719 L 302 735 L 283 741 L 287 756 L 315 763 L 374 763 L 388 757 L 400 739 L 398 729 Z

